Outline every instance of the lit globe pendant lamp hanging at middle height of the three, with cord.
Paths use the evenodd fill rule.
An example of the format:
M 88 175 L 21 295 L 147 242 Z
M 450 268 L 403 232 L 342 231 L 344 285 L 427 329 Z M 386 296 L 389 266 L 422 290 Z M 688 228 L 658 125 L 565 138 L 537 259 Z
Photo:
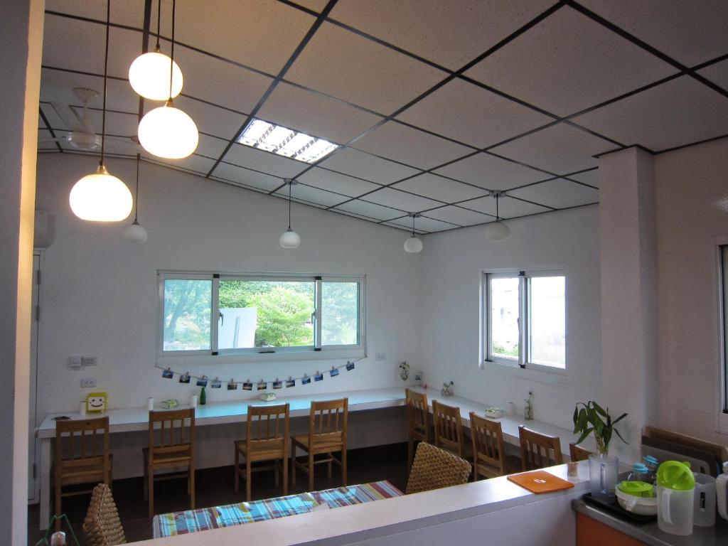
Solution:
M 172 1 L 172 60 L 175 58 L 175 9 L 176 0 Z M 165 159 L 182 159 L 189 157 L 197 149 L 199 132 L 192 118 L 175 108 L 173 104 L 174 78 L 170 66 L 170 89 L 167 103 L 147 112 L 139 122 L 139 143 L 146 151 Z

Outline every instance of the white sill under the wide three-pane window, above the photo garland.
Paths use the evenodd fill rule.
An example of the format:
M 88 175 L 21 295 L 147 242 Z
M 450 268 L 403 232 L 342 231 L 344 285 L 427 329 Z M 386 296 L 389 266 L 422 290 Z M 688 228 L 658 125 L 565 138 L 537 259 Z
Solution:
M 242 355 L 158 355 L 157 365 L 215 364 L 215 363 L 273 363 L 298 362 L 299 360 L 331 360 L 341 358 L 365 358 L 365 349 L 332 349 L 330 351 L 286 351 L 248 353 Z

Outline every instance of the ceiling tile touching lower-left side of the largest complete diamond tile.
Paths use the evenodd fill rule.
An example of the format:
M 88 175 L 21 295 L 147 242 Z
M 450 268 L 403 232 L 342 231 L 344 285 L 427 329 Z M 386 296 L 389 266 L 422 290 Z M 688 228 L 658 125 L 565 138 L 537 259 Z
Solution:
M 462 79 L 443 85 L 397 118 L 478 148 L 553 121 Z

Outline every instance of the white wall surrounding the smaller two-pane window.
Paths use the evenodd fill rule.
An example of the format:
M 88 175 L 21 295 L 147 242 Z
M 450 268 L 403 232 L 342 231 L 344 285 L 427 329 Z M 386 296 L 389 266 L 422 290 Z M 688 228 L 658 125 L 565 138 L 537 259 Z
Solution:
M 599 396 L 600 293 L 598 208 L 582 207 L 509 221 L 510 237 L 486 239 L 483 227 L 428 236 L 422 263 L 422 362 L 433 389 L 455 381 L 456 395 L 523 408 L 534 390 L 536 419 L 573 427 L 574 403 Z M 553 374 L 478 369 L 480 279 L 497 269 L 563 269 L 566 273 L 566 365 Z

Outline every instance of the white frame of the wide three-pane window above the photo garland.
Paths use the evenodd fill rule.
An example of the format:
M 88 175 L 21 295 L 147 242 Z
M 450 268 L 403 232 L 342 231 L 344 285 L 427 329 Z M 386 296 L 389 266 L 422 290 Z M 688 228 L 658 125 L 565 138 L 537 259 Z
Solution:
M 211 280 L 212 305 L 210 316 L 210 349 L 195 351 L 165 351 L 165 281 Z M 248 347 L 219 349 L 218 323 L 220 316 L 219 288 L 225 280 L 264 280 L 314 283 L 314 344 L 305 347 Z M 356 282 L 358 286 L 358 343 L 349 345 L 321 345 L 322 285 L 324 282 Z M 318 275 L 271 272 L 177 272 L 157 271 L 157 363 L 213 363 L 213 362 L 275 362 L 290 360 L 325 360 L 330 358 L 358 358 L 366 356 L 366 275 Z M 215 320 L 218 317 L 218 320 Z

